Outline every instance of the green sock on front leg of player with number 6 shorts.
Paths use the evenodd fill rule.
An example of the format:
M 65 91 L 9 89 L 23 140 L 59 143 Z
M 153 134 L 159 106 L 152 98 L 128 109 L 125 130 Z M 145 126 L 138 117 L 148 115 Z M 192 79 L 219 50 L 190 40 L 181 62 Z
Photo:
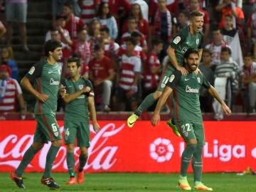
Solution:
M 45 172 L 43 174 L 44 178 L 50 177 L 50 171 L 53 167 L 53 162 L 56 158 L 56 155 L 57 155 L 59 149 L 60 149 L 60 146 L 53 146 L 53 145 L 50 146 L 50 149 L 46 156 L 46 168 L 45 168 Z

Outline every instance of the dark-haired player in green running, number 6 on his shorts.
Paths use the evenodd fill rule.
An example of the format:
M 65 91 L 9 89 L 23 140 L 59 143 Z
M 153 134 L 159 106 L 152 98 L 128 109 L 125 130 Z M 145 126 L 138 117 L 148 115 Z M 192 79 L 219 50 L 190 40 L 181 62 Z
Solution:
M 60 188 L 50 176 L 53 161 L 62 144 L 60 129 L 55 118 L 57 98 L 60 85 L 61 66 L 58 63 L 62 56 L 61 43 L 49 40 L 44 46 L 45 60 L 41 60 L 28 71 L 21 80 L 21 85 L 36 97 L 34 113 L 37 122 L 33 144 L 26 150 L 18 168 L 11 173 L 11 179 L 19 188 L 26 188 L 21 177 L 24 169 L 32 161 L 35 154 L 42 149 L 44 143 L 52 144 L 46 156 L 46 167 L 41 183 L 49 188 Z M 32 85 L 34 83 L 34 87 Z M 60 87 L 60 95 L 65 96 L 65 89 Z

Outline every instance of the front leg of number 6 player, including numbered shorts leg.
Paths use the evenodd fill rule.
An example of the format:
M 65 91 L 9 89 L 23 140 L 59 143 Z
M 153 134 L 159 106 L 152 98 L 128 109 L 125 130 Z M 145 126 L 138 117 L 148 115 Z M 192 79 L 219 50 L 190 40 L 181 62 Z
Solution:
M 58 127 L 55 115 L 53 114 L 37 115 L 36 118 L 41 124 L 41 131 L 45 135 L 46 140 L 52 143 L 46 155 L 46 166 L 43 177 L 41 178 L 41 183 L 48 186 L 49 188 L 60 188 L 58 183 L 54 181 L 50 174 L 53 167 L 53 162 L 56 158 L 56 155 L 58 154 L 60 146 L 62 145 L 60 128 Z

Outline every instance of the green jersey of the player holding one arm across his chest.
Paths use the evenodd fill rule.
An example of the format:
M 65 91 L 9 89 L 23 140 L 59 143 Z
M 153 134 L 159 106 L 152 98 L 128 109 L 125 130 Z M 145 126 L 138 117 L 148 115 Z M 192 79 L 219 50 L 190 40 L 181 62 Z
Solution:
M 79 80 L 73 81 L 70 78 L 61 81 L 65 86 L 68 94 L 73 94 L 82 90 L 83 87 L 90 87 L 91 91 L 79 95 L 75 100 L 69 102 L 65 107 L 64 119 L 72 122 L 85 122 L 89 118 L 88 112 L 88 97 L 94 97 L 92 83 L 90 80 L 85 80 L 80 77 Z

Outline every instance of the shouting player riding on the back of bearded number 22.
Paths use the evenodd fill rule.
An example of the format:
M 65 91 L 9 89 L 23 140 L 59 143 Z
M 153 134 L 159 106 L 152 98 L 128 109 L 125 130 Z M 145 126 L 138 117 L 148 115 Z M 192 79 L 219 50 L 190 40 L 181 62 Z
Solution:
M 159 87 L 154 93 L 149 94 L 142 101 L 141 105 L 137 110 L 131 114 L 127 119 L 128 127 L 133 127 L 139 116 L 144 110 L 147 110 L 151 105 L 156 102 L 161 96 L 166 83 L 168 82 L 170 75 L 174 73 L 174 70 L 180 71 L 183 75 L 188 74 L 186 68 L 183 68 L 183 57 L 188 49 L 196 49 L 199 53 L 199 60 L 201 60 L 201 55 L 203 52 L 203 33 L 201 32 L 203 28 L 203 14 L 199 11 L 193 11 L 190 14 L 190 24 L 184 28 L 174 37 L 171 44 L 167 50 L 169 55 L 170 63 L 166 65 L 162 72 L 161 80 L 159 82 Z M 198 70 L 196 70 L 198 73 Z M 170 119 L 167 121 L 169 127 L 174 131 L 174 134 L 181 136 L 174 124 L 174 120 Z

